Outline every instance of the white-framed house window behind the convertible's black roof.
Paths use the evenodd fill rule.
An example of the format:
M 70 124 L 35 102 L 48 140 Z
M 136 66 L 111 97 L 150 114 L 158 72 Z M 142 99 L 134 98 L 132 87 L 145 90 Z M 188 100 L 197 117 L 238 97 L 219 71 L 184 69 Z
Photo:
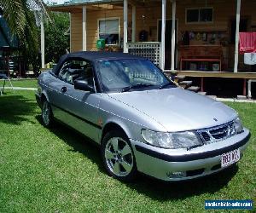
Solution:
M 106 45 L 119 45 L 119 19 L 98 20 L 99 38 L 105 39 Z

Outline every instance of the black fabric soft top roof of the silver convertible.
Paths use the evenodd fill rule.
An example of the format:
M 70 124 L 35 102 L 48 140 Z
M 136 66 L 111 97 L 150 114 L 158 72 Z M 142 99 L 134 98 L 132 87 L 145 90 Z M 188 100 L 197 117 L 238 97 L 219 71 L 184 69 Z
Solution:
M 143 57 L 137 56 L 137 55 L 130 55 L 120 52 L 101 52 L 101 51 L 81 51 L 81 52 L 74 52 L 67 55 L 62 55 L 61 59 L 59 60 L 57 66 L 55 66 L 55 69 L 53 72 L 58 72 L 58 70 L 61 68 L 60 66 L 62 63 L 67 60 L 68 58 L 81 58 L 84 60 L 90 60 L 92 62 L 95 62 L 97 60 L 110 60 L 110 59 L 140 59 L 140 60 L 146 60 Z

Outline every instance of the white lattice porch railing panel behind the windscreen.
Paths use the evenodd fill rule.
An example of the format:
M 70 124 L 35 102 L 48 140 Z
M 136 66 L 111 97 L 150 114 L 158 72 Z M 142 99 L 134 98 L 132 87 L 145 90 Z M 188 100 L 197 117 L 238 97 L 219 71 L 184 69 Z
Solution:
M 161 63 L 160 47 L 160 42 L 127 43 L 128 53 L 145 57 L 157 66 L 160 66 Z

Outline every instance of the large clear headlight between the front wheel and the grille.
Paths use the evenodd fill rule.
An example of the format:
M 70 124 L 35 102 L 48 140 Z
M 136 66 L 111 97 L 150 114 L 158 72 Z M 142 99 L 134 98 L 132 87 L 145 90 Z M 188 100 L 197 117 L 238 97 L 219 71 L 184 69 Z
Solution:
M 151 130 L 142 130 L 143 139 L 155 147 L 163 148 L 183 148 L 201 146 L 202 141 L 195 132 L 155 132 Z

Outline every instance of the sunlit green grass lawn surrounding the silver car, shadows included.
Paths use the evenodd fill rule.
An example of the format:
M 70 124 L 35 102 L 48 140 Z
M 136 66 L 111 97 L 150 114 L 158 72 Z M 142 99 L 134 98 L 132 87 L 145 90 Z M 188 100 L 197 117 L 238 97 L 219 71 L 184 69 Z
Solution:
M 228 103 L 252 132 L 238 166 L 195 181 L 139 176 L 122 183 L 103 170 L 97 147 L 67 127 L 48 130 L 32 91 L 0 96 L 0 212 L 199 212 L 205 199 L 256 195 L 256 105 Z

